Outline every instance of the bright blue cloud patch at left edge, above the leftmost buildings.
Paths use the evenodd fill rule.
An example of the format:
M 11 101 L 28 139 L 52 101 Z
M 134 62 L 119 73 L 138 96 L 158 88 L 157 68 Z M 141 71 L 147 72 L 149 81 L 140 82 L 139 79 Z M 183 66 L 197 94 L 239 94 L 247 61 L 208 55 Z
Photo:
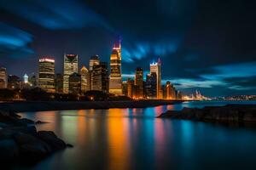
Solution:
M 32 42 L 32 35 L 13 26 L 0 22 L 0 56 L 21 58 L 33 53 L 28 45 Z

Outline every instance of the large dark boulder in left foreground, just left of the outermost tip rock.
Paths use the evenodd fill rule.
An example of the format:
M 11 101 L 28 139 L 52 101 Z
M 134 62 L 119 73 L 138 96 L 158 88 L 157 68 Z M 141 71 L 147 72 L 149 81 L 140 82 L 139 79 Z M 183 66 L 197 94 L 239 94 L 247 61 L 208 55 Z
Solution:
M 51 149 L 44 141 L 31 134 L 16 133 L 15 142 L 19 145 L 20 155 L 32 160 L 38 160 L 51 153 Z

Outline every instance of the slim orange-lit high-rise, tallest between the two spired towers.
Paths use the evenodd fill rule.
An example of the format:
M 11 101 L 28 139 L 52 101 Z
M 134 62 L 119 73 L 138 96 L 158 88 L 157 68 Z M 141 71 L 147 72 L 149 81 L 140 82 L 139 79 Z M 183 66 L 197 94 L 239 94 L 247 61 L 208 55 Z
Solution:
M 137 67 L 135 73 L 135 82 L 134 84 L 137 86 L 137 98 L 143 98 L 143 69 L 141 67 Z

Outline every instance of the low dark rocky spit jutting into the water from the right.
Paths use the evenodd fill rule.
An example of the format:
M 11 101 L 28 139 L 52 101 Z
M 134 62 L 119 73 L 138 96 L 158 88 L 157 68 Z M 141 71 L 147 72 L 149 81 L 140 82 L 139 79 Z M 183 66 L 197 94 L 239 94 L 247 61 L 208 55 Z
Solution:
M 158 117 L 202 122 L 256 123 L 256 105 L 206 106 L 202 109 L 183 108 L 182 111 L 166 111 Z

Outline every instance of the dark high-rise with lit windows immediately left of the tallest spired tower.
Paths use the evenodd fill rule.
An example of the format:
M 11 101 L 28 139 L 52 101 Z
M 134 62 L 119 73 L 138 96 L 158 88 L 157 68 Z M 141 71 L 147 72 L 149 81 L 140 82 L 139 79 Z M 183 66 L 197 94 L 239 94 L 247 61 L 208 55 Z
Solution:
M 92 69 L 92 89 L 108 93 L 108 64 L 100 62 Z

